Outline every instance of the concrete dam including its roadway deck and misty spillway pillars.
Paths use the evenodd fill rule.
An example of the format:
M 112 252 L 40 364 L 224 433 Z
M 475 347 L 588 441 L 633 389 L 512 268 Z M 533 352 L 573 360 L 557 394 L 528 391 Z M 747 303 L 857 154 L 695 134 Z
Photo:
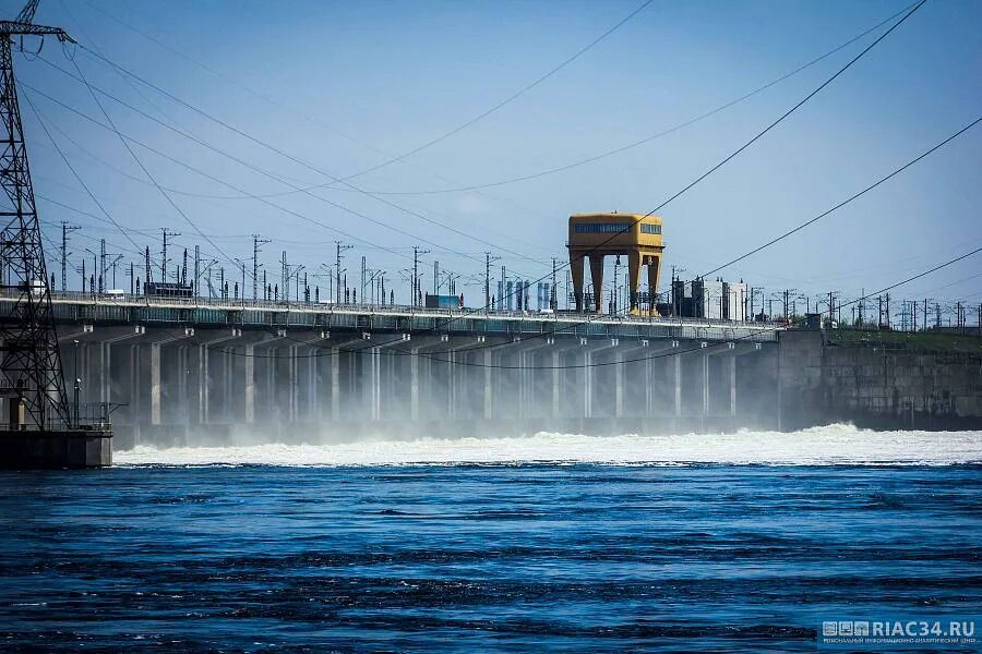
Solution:
M 111 408 L 118 449 L 779 426 L 780 330 L 761 324 L 83 293 L 53 308 L 68 392 L 77 379 L 83 416 Z

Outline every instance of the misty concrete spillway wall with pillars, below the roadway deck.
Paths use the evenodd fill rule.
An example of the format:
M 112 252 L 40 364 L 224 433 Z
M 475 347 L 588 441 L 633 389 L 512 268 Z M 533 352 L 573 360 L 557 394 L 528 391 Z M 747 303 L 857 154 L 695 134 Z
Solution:
M 119 449 L 776 427 L 776 342 L 127 326 L 62 359 Z

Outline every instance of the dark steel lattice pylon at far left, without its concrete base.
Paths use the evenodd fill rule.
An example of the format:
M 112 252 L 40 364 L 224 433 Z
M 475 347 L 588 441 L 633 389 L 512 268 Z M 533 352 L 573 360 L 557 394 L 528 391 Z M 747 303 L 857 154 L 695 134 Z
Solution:
M 34 25 L 36 9 L 37 0 L 33 0 L 16 20 L 0 21 L 0 288 L 13 299 L 0 322 L 0 393 L 8 399 L 12 429 L 64 428 L 71 424 L 55 334 L 51 280 L 17 106 L 13 48 L 14 38 L 24 36 L 50 35 L 62 43 L 73 41 L 59 27 Z

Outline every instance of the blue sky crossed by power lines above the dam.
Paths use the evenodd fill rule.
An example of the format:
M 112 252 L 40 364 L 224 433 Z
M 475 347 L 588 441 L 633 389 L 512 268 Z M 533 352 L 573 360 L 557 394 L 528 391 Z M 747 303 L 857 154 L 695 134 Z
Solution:
M 392 204 L 346 187 L 312 192 L 328 202 L 304 193 L 268 198 L 287 210 L 251 198 L 196 197 L 187 193 L 237 192 L 135 147 L 160 184 L 183 192 L 171 197 L 212 243 L 199 237 L 155 187 L 119 174 L 143 178 L 112 133 L 40 96 L 32 99 L 113 219 L 145 230 L 131 233 L 141 246 L 159 250 L 159 227 L 168 226 L 182 233 L 179 247 L 199 243 L 218 259 L 248 258 L 250 234 L 260 233 L 274 241 L 265 246 L 263 262 L 271 279 L 278 279 L 282 250 L 291 263 L 313 272 L 333 262 L 333 241 L 340 238 L 355 245 L 346 253 L 351 283 L 362 255 L 370 267 L 386 270 L 390 280 L 397 278 L 411 265 L 409 247 L 419 243 L 432 251 L 423 257 L 427 270 L 436 258 L 444 268 L 478 275 L 483 270 L 482 252 L 492 250 L 510 271 L 536 278 L 549 271 L 552 256 L 565 259 L 570 214 L 646 213 L 658 206 L 886 27 L 740 105 L 626 153 L 482 191 L 416 193 L 531 174 L 644 138 L 770 82 L 907 4 L 656 0 L 499 111 L 398 164 L 351 180 L 361 191 L 407 193 L 383 196 Z M 480 114 L 638 5 L 45 0 L 35 20 L 64 26 L 80 43 L 187 102 L 314 168 L 344 177 Z M 19 9 L 4 2 L 8 15 Z M 166 41 L 169 49 L 123 23 Z M 765 138 L 666 206 L 659 211 L 666 225 L 663 278 L 672 265 L 694 276 L 753 249 L 982 114 L 980 27 L 978 2 L 927 2 Z M 67 59 L 72 52 L 49 41 L 41 57 L 73 72 Z M 330 181 L 128 81 L 84 51 L 74 55 L 92 84 L 164 122 L 289 178 L 295 186 Z M 15 65 L 22 82 L 103 120 L 85 87 L 75 81 L 29 55 L 19 55 Z M 175 159 L 252 194 L 291 191 L 290 185 L 205 150 L 111 100 L 104 98 L 104 104 L 122 132 Z M 100 215 L 33 112 L 25 107 L 23 114 L 37 192 Z M 901 177 L 723 276 L 775 292 L 793 288 L 810 294 L 837 290 L 852 295 L 982 245 L 977 208 L 982 201 L 980 131 L 967 133 Z M 133 256 L 127 251 L 132 249 L 130 242 L 105 222 L 46 199 L 39 201 L 39 210 L 51 223 L 52 235 L 62 219 L 83 227 L 74 239 L 76 252 L 96 249 L 97 240 L 106 238 L 110 251 L 127 259 Z M 300 216 L 357 239 L 338 237 Z M 386 226 L 411 235 L 394 233 Z M 982 270 L 980 261 L 953 266 L 895 296 L 982 302 L 982 276 L 973 277 Z M 326 280 L 319 283 L 325 286 Z M 398 283 L 397 295 L 405 301 L 405 284 Z M 428 277 L 423 288 L 430 284 Z M 479 284 L 465 287 L 464 292 L 469 304 L 478 303 Z

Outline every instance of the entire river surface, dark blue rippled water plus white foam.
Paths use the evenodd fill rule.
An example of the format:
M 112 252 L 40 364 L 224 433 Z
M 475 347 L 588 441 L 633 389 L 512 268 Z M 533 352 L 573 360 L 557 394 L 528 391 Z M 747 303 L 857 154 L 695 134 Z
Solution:
M 0 651 L 813 650 L 982 613 L 982 434 L 136 448 L 0 473 Z

